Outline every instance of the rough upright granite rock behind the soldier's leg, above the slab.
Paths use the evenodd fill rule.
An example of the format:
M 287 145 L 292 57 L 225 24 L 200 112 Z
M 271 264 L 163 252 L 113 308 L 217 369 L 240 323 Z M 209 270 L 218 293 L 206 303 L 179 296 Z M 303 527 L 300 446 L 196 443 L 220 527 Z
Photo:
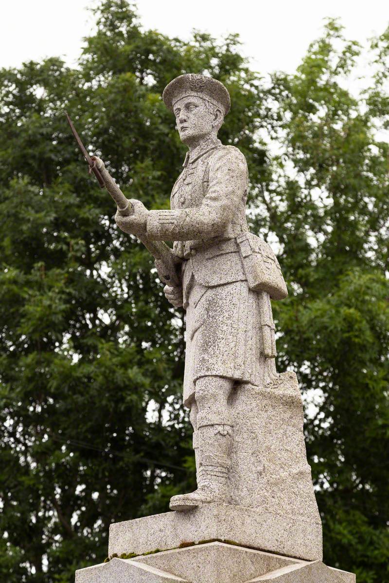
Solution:
M 296 374 L 278 374 L 264 387 L 240 385 L 230 397 L 230 412 L 234 434 L 226 502 L 300 517 L 313 528 L 321 524 Z

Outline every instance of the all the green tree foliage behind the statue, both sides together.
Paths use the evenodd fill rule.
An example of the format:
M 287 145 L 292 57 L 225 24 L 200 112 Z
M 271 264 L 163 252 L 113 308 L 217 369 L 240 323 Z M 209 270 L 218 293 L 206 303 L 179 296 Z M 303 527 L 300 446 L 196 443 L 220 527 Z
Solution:
M 115 227 L 64 111 L 128 196 L 167 208 L 185 148 L 160 95 L 204 72 L 229 88 L 220 138 L 247 157 L 253 230 L 288 280 L 278 367 L 302 384 L 325 560 L 386 580 L 389 31 L 355 97 L 361 47 L 333 20 L 295 75 L 267 81 L 237 36 L 145 31 L 124 0 L 95 13 L 77 68 L 0 71 L 1 579 L 73 581 L 104 559 L 110 522 L 194 486 L 183 313 Z

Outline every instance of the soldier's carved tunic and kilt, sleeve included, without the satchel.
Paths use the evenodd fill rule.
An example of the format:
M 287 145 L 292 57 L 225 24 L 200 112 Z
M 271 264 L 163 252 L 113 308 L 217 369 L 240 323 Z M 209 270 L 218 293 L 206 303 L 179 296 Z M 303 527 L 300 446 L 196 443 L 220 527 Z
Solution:
M 262 382 L 264 298 L 248 287 L 236 241 L 248 231 L 247 181 L 240 150 L 213 140 L 187 154 L 171 210 L 149 213 L 147 233 L 174 241 L 174 253 L 183 259 L 185 405 L 197 379 L 206 375 Z

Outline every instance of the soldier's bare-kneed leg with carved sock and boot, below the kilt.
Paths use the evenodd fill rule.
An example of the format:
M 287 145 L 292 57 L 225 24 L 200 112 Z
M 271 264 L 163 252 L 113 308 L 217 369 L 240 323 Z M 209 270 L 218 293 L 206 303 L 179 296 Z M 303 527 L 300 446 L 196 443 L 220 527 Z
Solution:
M 213 376 L 201 377 L 196 382 L 194 442 L 198 488 L 190 494 L 173 496 L 171 510 L 190 510 L 201 504 L 227 500 L 233 430 L 227 400 L 233 384 L 233 379 Z

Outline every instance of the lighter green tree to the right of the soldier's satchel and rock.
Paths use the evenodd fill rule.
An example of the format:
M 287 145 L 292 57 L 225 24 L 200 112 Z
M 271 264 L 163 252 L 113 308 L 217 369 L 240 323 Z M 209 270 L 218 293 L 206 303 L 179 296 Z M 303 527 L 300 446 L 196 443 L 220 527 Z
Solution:
M 256 197 L 292 292 L 275 305 L 279 364 L 306 399 L 324 557 L 366 583 L 389 575 L 388 41 L 389 29 L 373 41 L 358 97 L 347 87 L 361 47 L 336 20 L 295 75 L 272 77 L 281 153 Z

